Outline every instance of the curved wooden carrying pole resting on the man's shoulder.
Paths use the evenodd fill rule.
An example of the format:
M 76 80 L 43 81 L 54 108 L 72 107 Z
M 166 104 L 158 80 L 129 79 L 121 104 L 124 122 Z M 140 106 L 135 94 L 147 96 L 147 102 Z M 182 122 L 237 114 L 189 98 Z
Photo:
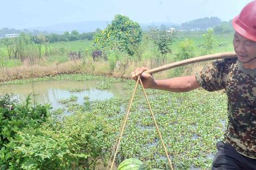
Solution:
M 164 65 L 164 66 L 160 66 L 160 67 L 156 67 L 154 69 L 144 71 L 144 73 L 153 74 L 153 73 L 158 73 L 160 71 L 172 69 L 175 67 L 188 65 L 190 63 L 209 61 L 209 60 L 213 60 L 213 59 L 236 58 L 236 57 L 237 57 L 237 54 L 235 52 L 209 54 L 209 55 L 205 55 L 205 56 L 193 57 L 193 58 L 189 58 L 189 59 L 184 59 L 182 61 L 173 62 L 168 65 Z

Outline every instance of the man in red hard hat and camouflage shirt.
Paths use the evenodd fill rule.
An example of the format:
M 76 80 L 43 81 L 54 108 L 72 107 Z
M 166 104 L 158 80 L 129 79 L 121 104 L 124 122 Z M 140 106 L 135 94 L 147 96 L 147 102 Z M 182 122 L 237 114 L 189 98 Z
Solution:
M 208 91 L 225 89 L 228 96 L 228 128 L 212 169 L 256 169 L 256 0 L 248 3 L 233 19 L 236 59 L 222 59 L 192 76 L 154 80 L 141 67 L 145 88 L 186 92 L 199 87 Z

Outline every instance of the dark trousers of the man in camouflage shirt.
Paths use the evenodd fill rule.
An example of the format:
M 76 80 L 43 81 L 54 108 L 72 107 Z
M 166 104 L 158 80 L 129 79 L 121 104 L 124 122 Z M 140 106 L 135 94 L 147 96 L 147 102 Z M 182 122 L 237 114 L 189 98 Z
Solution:
M 216 146 L 212 170 L 256 170 L 256 159 L 241 155 L 228 143 L 217 142 Z

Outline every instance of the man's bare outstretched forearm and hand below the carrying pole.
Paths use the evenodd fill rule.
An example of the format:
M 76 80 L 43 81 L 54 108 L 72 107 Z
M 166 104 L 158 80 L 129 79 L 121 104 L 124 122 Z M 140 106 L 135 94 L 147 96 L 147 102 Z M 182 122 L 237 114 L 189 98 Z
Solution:
M 145 88 L 154 88 L 172 92 L 187 92 L 200 87 L 200 84 L 196 81 L 194 75 L 155 80 L 151 74 L 143 73 L 146 70 L 148 70 L 146 67 L 141 67 L 131 73 L 134 80 L 137 80 L 139 75 L 141 76 Z

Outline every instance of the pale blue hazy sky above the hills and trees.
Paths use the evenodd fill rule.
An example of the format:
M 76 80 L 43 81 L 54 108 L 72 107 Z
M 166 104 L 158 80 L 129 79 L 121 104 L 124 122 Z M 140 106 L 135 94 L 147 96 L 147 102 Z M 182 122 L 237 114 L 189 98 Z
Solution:
M 0 0 L 0 28 L 44 27 L 59 23 L 111 21 L 115 14 L 138 23 L 217 16 L 228 21 L 251 0 Z

